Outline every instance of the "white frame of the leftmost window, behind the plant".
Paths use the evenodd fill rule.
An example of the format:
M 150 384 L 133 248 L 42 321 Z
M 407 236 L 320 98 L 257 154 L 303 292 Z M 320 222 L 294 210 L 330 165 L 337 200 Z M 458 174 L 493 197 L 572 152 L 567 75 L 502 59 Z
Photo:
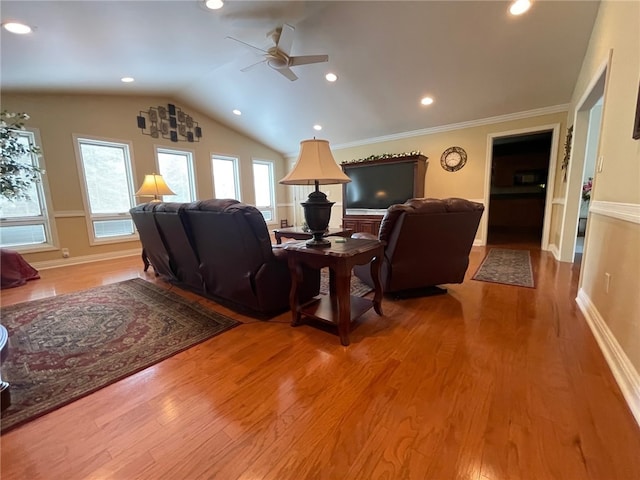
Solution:
M 42 148 L 40 130 L 37 128 L 25 127 L 17 133 L 19 136 L 28 137 L 30 144 L 38 145 L 38 147 L 40 147 L 40 155 L 33 153 L 30 154 L 32 164 L 37 165 L 43 171 L 43 173 L 40 174 L 40 181 L 35 184 L 36 192 L 38 194 L 38 203 L 40 204 L 40 215 L 27 217 L 2 217 L 0 218 L 0 223 L 5 227 L 42 225 L 44 228 L 45 241 L 44 243 L 36 244 L 7 245 L 6 248 L 10 248 L 19 253 L 36 253 L 57 250 L 58 232 L 55 221 L 53 221 L 53 202 L 51 200 L 51 190 L 49 188 L 49 181 L 46 175 L 47 165 L 44 158 L 44 149 Z

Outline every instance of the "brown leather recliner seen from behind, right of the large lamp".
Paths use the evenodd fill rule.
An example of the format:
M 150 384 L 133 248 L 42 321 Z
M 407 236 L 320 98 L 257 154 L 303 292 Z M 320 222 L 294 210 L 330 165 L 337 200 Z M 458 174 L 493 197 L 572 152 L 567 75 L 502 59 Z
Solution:
M 443 293 L 435 286 L 462 283 L 483 211 L 481 203 L 462 198 L 413 198 L 390 206 L 378 232 L 387 244 L 380 275 L 383 291 L 397 296 Z M 354 273 L 373 286 L 368 265 L 356 266 Z

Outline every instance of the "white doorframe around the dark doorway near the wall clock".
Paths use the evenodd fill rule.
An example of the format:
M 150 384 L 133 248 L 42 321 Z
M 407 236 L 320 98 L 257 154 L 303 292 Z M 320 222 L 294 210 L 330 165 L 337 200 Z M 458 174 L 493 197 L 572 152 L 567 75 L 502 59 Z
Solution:
M 487 158 L 485 161 L 484 171 L 484 207 L 487 212 L 482 227 L 480 229 L 480 238 L 482 245 L 487 244 L 489 234 L 489 202 L 491 197 L 491 167 L 493 166 L 493 141 L 496 138 L 513 137 L 517 135 L 529 133 L 545 133 L 551 132 L 551 151 L 549 152 L 549 169 L 547 173 L 547 184 L 544 200 L 544 219 L 542 222 L 542 238 L 540 240 L 540 248 L 549 250 L 549 235 L 551 230 L 551 215 L 553 213 L 553 191 L 556 180 L 556 166 L 558 164 L 558 144 L 560 137 L 560 124 L 552 123 L 547 125 L 536 125 L 534 127 L 520 128 L 517 130 L 507 130 L 504 132 L 494 132 L 487 135 Z

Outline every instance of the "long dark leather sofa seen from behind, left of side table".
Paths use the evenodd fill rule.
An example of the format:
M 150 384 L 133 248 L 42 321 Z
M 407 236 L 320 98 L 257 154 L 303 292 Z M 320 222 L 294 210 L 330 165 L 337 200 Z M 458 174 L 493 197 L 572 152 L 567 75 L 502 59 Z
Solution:
M 287 252 L 271 244 L 262 214 L 237 200 L 148 203 L 130 210 L 158 275 L 258 318 L 289 309 Z M 301 299 L 319 293 L 320 272 L 305 271 Z

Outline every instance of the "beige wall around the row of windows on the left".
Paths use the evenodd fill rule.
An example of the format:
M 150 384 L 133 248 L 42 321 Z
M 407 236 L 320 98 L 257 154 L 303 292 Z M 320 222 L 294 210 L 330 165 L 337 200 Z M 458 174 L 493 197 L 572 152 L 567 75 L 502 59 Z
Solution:
M 171 142 L 143 135 L 137 128 L 136 116 L 141 110 L 175 103 L 193 116 L 202 128 L 200 142 Z M 140 185 L 145 174 L 157 170 L 155 147 L 163 146 L 191 150 L 194 153 L 196 190 L 199 199 L 213 197 L 211 154 L 224 154 L 239 158 L 242 200 L 254 203 L 252 159 L 272 160 L 276 180 L 285 175 L 284 158 L 248 137 L 217 123 L 197 109 L 174 102 L 166 97 L 99 96 L 2 93 L 2 108 L 13 112 L 26 112 L 31 116 L 27 127 L 40 133 L 46 166 L 47 182 L 51 191 L 55 227 L 59 248 L 68 248 L 74 257 L 104 255 L 139 248 L 137 241 L 91 246 L 87 232 L 84 204 L 74 151 L 73 135 L 131 142 L 134 165 L 134 184 Z M 285 196 L 282 189 L 277 195 Z M 58 260 L 61 253 L 54 251 L 29 253 L 30 262 Z

